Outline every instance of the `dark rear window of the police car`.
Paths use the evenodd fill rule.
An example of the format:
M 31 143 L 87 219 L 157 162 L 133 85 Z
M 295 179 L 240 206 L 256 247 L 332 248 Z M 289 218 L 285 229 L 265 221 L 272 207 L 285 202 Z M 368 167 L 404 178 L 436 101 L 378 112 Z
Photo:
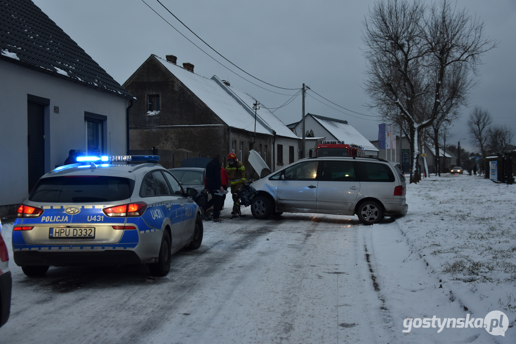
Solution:
M 112 176 L 59 176 L 40 179 L 29 195 L 33 202 L 112 202 L 131 197 L 134 182 Z

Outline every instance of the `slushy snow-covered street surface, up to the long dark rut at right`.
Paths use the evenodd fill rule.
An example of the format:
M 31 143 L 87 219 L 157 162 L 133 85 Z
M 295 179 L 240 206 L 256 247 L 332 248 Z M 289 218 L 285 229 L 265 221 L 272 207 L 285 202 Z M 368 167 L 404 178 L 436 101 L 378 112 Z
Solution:
M 295 214 L 204 223 L 201 249 L 174 255 L 170 274 L 155 280 L 142 267 L 51 268 L 34 279 L 11 260 L 11 317 L 0 340 L 341 343 L 392 336 L 366 260 L 364 234 L 373 227 L 356 217 Z

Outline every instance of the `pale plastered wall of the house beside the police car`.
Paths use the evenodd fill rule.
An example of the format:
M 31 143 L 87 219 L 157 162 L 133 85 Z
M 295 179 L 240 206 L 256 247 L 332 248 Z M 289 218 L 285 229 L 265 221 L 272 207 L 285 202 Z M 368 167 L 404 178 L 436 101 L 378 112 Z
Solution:
M 0 75 L 0 206 L 28 196 L 27 94 L 50 99 L 45 108 L 45 173 L 62 165 L 71 149 L 85 149 L 85 111 L 107 117 L 105 153 L 125 155 L 128 103 L 123 97 L 2 60 Z

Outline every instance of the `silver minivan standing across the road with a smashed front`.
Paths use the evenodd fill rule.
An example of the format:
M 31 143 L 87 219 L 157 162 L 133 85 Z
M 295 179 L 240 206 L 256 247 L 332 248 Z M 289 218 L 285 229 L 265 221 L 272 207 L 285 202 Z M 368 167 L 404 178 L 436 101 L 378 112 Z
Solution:
M 240 204 L 268 219 L 283 212 L 358 215 L 364 224 L 407 213 L 405 177 L 397 163 L 365 157 L 301 159 L 240 192 Z

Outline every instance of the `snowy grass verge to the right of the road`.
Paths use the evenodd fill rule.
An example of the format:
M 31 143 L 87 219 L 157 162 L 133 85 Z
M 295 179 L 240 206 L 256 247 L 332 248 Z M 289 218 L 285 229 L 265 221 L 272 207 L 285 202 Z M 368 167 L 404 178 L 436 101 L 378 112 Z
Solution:
M 409 213 L 392 224 L 406 237 L 410 258 L 428 264 L 438 287 L 464 307 L 464 315 L 484 318 L 493 310 L 507 315 L 505 337 L 494 337 L 507 343 L 516 341 L 515 188 L 482 176 L 426 178 L 408 185 Z

